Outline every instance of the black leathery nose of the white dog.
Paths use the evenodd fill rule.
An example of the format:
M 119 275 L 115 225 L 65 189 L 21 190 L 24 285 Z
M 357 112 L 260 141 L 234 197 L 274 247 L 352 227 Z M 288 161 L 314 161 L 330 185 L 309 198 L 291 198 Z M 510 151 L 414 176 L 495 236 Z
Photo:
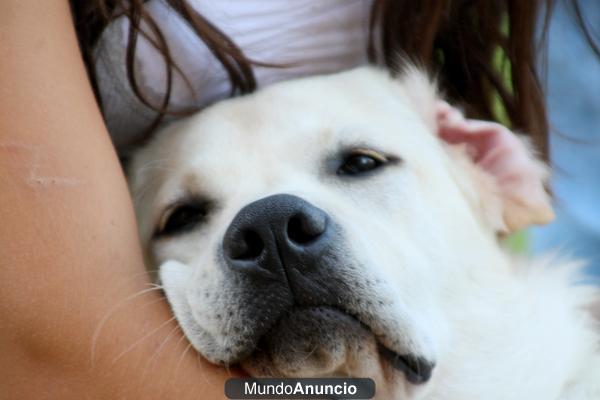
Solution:
M 227 264 L 247 273 L 314 266 L 331 240 L 329 217 L 299 197 L 278 194 L 248 204 L 223 238 Z

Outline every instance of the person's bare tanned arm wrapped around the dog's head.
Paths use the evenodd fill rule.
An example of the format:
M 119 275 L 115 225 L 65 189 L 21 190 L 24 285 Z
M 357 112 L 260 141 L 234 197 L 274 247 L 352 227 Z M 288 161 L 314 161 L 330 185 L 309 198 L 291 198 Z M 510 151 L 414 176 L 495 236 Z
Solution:
M 66 0 L 0 1 L 0 285 L 2 398 L 223 397 L 160 293 L 130 299 L 148 278 Z

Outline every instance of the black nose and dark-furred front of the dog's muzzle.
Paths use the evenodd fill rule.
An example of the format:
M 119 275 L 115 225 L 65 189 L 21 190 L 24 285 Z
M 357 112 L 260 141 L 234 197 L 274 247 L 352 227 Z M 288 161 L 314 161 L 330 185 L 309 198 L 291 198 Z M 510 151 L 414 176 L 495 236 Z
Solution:
M 348 254 L 343 243 L 333 219 L 296 196 L 269 196 L 238 212 L 222 251 L 231 279 L 245 288 L 240 302 L 246 321 L 253 324 L 244 328 L 246 351 L 259 340 L 280 353 L 289 346 L 310 348 L 318 343 L 331 357 L 339 347 L 336 343 L 362 340 L 360 332 L 371 332 L 365 323 L 371 318 L 351 306 L 362 300 L 355 298 L 356 288 L 341 271 Z M 383 346 L 379 354 L 412 383 L 424 383 L 431 376 L 433 364 L 420 357 Z

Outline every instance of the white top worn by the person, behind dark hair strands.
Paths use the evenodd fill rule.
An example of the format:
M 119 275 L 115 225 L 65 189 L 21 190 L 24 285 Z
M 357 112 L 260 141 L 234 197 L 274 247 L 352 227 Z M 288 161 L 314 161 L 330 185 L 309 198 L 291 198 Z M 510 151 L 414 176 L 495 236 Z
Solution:
M 189 0 L 189 4 L 251 59 L 293 65 L 255 67 L 259 87 L 367 62 L 372 0 Z M 173 75 L 171 107 L 201 108 L 228 97 L 231 86 L 226 71 L 182 18 L 162 0 L 151 0 L 145 7 L 192 84 L 190 91 L 177 73 Z M 156 116 L 136 98 L 127 80 L 128 25 L 125 17 L 117 18 L 95 49 L 105 120 L 117 148 L 139 138 Z M 165 65 L 160 53 L 141 36 L 135 69 L 142 92 L 153 104 L 160 104 L 166 88 Z

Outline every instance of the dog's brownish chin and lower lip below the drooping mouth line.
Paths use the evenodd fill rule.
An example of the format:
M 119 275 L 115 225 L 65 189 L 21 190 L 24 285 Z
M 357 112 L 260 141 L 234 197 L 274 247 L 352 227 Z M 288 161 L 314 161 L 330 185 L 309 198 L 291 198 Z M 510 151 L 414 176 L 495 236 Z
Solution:
M 426 381 L 419 362 L 383 347 L 368 327 L 341 310 L 296 307 L 241 366 L 256 377 L 374 377 L 381 387 L 402 376 L 413 384 Z

